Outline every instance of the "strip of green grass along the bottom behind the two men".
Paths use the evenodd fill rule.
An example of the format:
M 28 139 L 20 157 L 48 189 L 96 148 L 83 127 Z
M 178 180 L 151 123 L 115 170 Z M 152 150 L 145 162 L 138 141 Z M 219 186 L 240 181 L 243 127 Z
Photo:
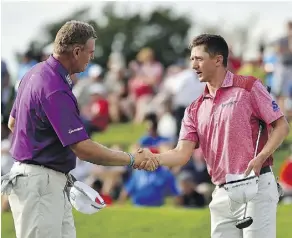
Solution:
M 292 237 L 292 206 L 279 206 L 277 238 Z M 210 237 L 208 209 L 172 207 L 111 207 L 91 215 L 74 213 L 77 238 L 207 238 Z M 2 215 L 2 237 L 14 238 L 12 217 Z

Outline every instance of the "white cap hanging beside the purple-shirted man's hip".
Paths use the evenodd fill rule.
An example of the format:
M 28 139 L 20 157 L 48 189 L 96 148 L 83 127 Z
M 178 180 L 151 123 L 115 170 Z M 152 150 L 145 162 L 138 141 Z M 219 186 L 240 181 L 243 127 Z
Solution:
M 80 181 L 74 182 L 69 199 L 72 206 L 84 214 L 94 214 L 106 206 L 97 191 Z

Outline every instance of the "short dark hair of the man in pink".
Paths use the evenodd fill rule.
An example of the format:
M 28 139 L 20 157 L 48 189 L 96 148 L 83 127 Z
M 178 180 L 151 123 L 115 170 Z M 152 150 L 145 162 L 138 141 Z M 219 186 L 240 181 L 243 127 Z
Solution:
M 227 59 L 228 59 L 228 45 L 224 38 L 219 35 L 212 34 L 202 34 L 195 37 L 190 44 L 190 49 L 195 46 L 204 45 L 205 51 L 210 56 L 222 55 L 223 56 L 223 65 L 227 67 Z

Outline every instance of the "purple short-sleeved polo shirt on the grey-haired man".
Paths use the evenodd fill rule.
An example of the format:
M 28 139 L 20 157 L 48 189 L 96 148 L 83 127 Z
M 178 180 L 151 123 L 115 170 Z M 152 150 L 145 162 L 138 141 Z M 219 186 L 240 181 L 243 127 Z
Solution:
M 16 120 L 10 150 L 15 160 L 64 173 L 75 168 L 69 145 L 89 137 L 70 76 L 53 56 L 23 77 L 11 116 Z

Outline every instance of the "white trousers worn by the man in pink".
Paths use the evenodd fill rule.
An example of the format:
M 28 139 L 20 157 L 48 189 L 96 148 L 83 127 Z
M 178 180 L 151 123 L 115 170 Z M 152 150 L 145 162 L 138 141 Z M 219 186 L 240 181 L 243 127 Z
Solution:
M 260 175 L 258 185 L 258 194 L 247 203 L 246 217 L 253 223 L 242 230 L 235 224 L 243 218 L 245 204 L 230 200 L 224 188 L 215 188 L 209 205 L 212 238 L 276 238 L 279 194 L 273 173 Z

